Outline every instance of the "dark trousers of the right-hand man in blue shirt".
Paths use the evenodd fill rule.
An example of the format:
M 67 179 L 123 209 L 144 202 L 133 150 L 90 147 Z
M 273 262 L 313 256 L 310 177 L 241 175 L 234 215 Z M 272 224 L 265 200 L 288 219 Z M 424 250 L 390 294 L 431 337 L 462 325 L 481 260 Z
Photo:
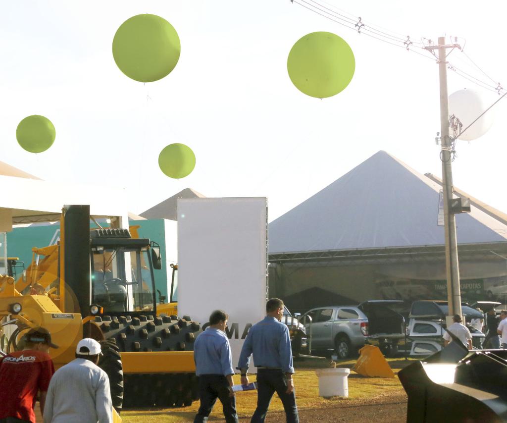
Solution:
M 294 391 L 292 394 L 286 394 L 287 380 L 283 370 L 257 369 L 257 390 L 257 409 L 250 423 L 264 423 L 275 392 L 282 401 L 287 423 L 299 423 L 296 395 Z

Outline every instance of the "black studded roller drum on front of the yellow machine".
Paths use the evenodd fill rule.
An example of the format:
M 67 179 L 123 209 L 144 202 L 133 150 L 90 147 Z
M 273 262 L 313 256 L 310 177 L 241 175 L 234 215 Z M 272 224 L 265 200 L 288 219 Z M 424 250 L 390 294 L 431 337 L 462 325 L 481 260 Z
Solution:
M 201 332 L 189 316 L 96 316 L 104 339 L 120 352 L 192 351 Z M 123 408 L 182 407 L 198 399 L 194 373 L 140 373 L 124 375 Z

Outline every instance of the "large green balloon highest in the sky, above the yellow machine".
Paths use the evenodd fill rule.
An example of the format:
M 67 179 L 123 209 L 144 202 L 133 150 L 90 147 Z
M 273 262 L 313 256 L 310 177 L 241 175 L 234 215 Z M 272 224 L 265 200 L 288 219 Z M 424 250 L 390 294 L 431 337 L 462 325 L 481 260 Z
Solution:
M 167 76 L 179 59 L 181 46 L 173 26 L 157 15 L 136 15 L 121 24 L 113 39 L 113 57 L 135 81 L 153 82 Z

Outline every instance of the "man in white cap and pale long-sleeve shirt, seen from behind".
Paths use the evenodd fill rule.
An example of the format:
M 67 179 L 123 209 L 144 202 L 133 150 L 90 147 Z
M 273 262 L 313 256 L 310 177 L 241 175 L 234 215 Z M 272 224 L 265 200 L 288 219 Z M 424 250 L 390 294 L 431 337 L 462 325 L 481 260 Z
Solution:
M 78 342 L 76 360 L 61 367 L 49 383 L 44 423 L 113 423 L 107 374 L 97 366 L 100 344 Z

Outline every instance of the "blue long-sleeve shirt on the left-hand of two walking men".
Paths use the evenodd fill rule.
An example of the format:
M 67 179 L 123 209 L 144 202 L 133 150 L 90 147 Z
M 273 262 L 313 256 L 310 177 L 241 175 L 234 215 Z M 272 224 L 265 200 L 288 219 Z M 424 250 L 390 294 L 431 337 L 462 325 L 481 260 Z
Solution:
M 206 328 L 194 342 L 195 373 L 234 374 L 229 339 L 220 329 Z

